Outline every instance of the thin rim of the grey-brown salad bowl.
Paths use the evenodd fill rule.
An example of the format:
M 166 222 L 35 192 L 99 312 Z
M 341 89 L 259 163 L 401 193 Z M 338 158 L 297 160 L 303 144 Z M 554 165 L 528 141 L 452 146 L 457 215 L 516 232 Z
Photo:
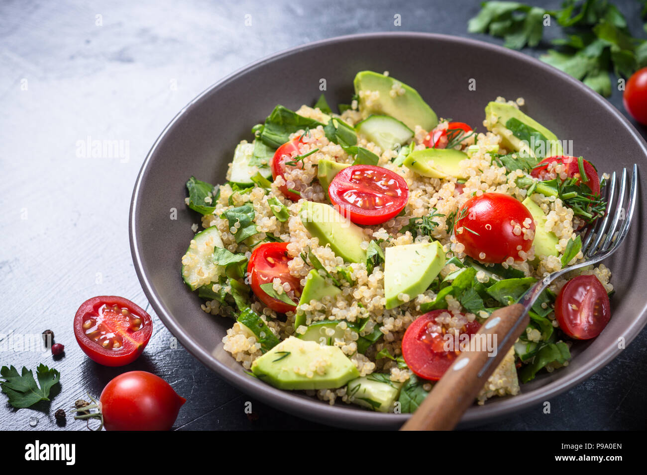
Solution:
M 248 70 L 253 70 L 258 67 L 261 67 L 265 63 L 276 61 L 277 59 L 284 58 L 285 56 L 290 56 L 295 52 L 300 52 L 303 50 L 309 50 L 311 48 L 323 47 L 326 45 L 334 45 L 338 43 L 344 43 L 345 41 L 353 41 L 359 39 L 371 39 L 371 38 L 382 38 L 390 37 L 392 39 L 399 38 L 421 38 L 428 39 L 430 41 L 451 41 L 454 43 L 459 43 L 465 47 L 469 48 L 483 48 L 486 50 L 492 50 L 493 52 L 502 54 L 504 56 L 511 56 L 514 59 L 518 59 L 525 63 L 529 63 L 532 67 L 538 67 L 545 69 L 551 74 L 560 76 L 565 81 L 568 81 L 574 87 L 579 89 L 584 89 L 586 94 L 589 96 L 591 101 L 598 103 L 600 107 L 604 107 L 607 111 L 611 112 L 617 120 L 624 124 L 631 133 L 631 135 L 642 145 L 642 149 L 647 155 L 647 143 L 645 143 L 641 134 L 633 127 L 633 125 L 628 121 L 609 101 L 605 100 L 595 92 L 590 89 L 580 81 L 572 78 L 568 74 L 555 69 L 539 61 L 538 59 L 532 58 L 527 54 L 521 52 L 510 50 L 508 48 L 501 47 L 499 45 L 494 45 L 492 43 L 486 43 L 484 41 L 479 41 L 476 39 L 470 39 L 460 36 L 444 35 L 444 34 L 435 34 L 435 33 L 424 33 L 424 32 L 373 32 L 373 33 L 362 33 L 362 34 L 351 34 L 345 36 L 338 36 L 329 39 L 322 39 L 320 41 L 313 41 L 311 43 L 306 43 L 304 45 L 298 45 L 296 47 L 288 48 L 286 50 L 276 52 L 261 58 L 258 61 L 254 61 L 236 71 L 232 72 L 225 78 L 220 79 L 219 81 L 212 84 L 210 87 L 201 92 L 193 100 L 191 100 L 186 106 L 184 106 L 181 111 L 166 125 L 164 131 L 162 131 L 153 143 L 153 146 L 149 150 L 144 163 L 139 171 L 137 180 L 135 182 L 135 187 L 133 189 L 133 196 L 131 199 L 130 214 L 129 214 L 129 240 L 131 254 L 133 257 L 133 262 L 135 264 L 135 271 L 137 272 L 137 277 L 142 284 L 142 288 L 146 297 L 155 309 L 157 315 L 166 327 L 170 330 L 177 339 L 182 343 L 184 348 L 186 348 L 193 356 L 195 356 L 199 361 L 208 366 L 208 368 L 214 370 L 220 377 L 223 377 L 228 383 L 236 386 L 239 390 L 250 394 L 261 401 L 268 403 L 275 408 L 283 410 L 288 413 L 296 414 L 298 416 L 310 419 L 313 421 L 318 421 L 320 423 L 334 425 L 338 427 L 360 427 L 360 428 L 384 428 L 384 427 L 398 427 L 402 425 L 409 417 L 410 414 L 382 414 L 379 412 L 371 412 L 361 408 L 351 408 L 347 406 L 340 405 L 329 405 L 318 399 L 310 397 L 301 397 L 296 394 L 293 394 L 289 391 L 283 391 L 274 388 L 273 386 L 267 385 L 258 379 L 250 377 L 242 372 L 236 372 L 231 368 L 228 368 L 224 364 L 220 363 L 215 359 L 208 351 L 200 348 L 195 342 L 193 342 L 190 335 L 184 332 L 182 328 L 177 324 L 173 319 L 173 316 L 164 308 L 161 304 L 158 297 L 157 291 L 153 288 L 151 282 L 148 280 L 148 277 L 144 274 L 142 257 L 140 256 L 138 250 L 138 240 L 137 235 L 134 232 L 134 229 L 137 229 L 137 216 L 142 211 L 137 207 L 138 196 L 140 193 L 140 187 L 142 185 L 142 179 L 148 167 L 150 167 L 151 159 L 157 146 L 161 142 L 162 138 L 173 128 L 174 123 L 179 120 L 185 114 L 190 114 L 192 106 L 201 101 L 206 94 L 212 92 L 212 90 L 222 87 L 230 83 L 231 81 L 236 81 L 237 76 L 243 72 L 248 72 Z M 647 301 L 645 305 L 638 309 L 639 314 L 631 322 L 629 328 L 626 329 L 625 341 L 628 345 L 635 338 L 635 336 L 642 330 L 642 328 L 647 323 Z M 509 416 L 514 412 L 519 412 L 525 408 L 529 408 L 533 405 L 538 405 L 542 401 L 557 396 L 562 392 L 565 392 L 569 388 L 581 383 L 591 375 L 595 374 L 598 370 L 602 369 L 606 364 L 608 364 L 612 359 L 614 359 L 619 353 L 620 348 L 617 344 L 609 346 L 604 352 L 600 352 L 593 359 L 590 359 L 585 364 L 582 364 L 577 370 L 569 375 L 569 377 L 558 378 L 551 383 L 532 390 L 531 392 L 521 393 L 518 396 L 507 397 L 505 404 L 498 405 L 483 405 L 483 406 L 472 406 L 468 408 L 465 412 L 459 427 L 472 427 L 475 425 L 483 424 L 487 421 L 491 421 L 496 417 L 500 416 Z

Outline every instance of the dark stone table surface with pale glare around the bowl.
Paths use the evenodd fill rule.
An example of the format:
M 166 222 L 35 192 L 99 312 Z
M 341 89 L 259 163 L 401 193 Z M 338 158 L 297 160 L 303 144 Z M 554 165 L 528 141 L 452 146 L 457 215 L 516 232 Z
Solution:
M 617 4 L 641 32 L 638 3 Z M 1 2 L 0 338 L 50 328 L 67 351 L 55 361 L 47 353 L 0 351 L 3 365 L 45 363 L 62 375 L 51 403 L 14 410 L 1 395 L 0 429 L 58 429 L 54 410 L 86 391 L 100 394 L 112 377 L 131 369 L 164 377 L 188 399 L 178 429 L 327 428 L 228 385 L 181 346 L 172 348 L 173 336 L 155 315 L 146 352 L 126 368 L 89 361 L 74 341 L 72 318 L 85 299 L 106 294 L 151 312 L 129 249 L 132 188 L 155 138 L 199 92 L 263 56 L 344 34 L 411 30 L 501 44 L 466 32 L 478 10 L 478 2 L 465 0 Z M 401 26 L 393 25 L 395 14 Z M 556 28 L 546 30 L 546 38 L 556 35 Z M 610 100 L 623 111 L 618 91 Z M 80 157 L 78 142 L 88 138 L 123 140 L 127 159 Z M 551 414 L 537 406 L 481 428 L 644 428 L 646 375 L 642 330 L 615 361 L 555 397 Z M 252 416 L 245 401 L 252 401 Z M 85 424 L 69 420 L 64 428 Z

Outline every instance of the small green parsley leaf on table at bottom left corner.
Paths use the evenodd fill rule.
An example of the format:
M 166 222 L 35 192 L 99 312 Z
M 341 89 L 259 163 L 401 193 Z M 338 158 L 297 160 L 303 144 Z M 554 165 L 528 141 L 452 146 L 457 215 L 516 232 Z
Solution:
M 34 380 L 34 374 L 23 366 L 22 374 L 14 366 L 7 368 L 3 366 L 0 369 L 0 377 L 5 379 L 0 383 L 2 392 L 9 398 L 9 404 L 15 408 L 26 408 L 32 406 L 38 401 L 49 401 L 50 391 L 52 397 L 60 391 L 60 386 L 52 390 L 55 385 L 59 384 L 61 374 L 54 368 L 48 368 L 45 364 L 39 364 L 36 368 L 36 377 L 38 385 Z

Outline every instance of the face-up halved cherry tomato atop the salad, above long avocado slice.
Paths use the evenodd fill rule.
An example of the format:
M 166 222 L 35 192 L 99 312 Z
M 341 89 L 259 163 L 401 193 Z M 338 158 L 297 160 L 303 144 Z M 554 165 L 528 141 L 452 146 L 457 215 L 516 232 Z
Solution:
M 409 187 L 402 176 L 384 167 L 353 165 L 334 176 L 328 196 L 352 222 L 380 224 L 406 206 Z

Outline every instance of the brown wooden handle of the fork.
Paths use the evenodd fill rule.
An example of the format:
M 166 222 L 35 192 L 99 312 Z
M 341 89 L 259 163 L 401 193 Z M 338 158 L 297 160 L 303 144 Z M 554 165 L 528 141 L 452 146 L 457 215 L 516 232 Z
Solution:
M 514 328 L 514 332 L 510 333 L 507 341 L 494 355 L 488 355 L 487 344 L 481 344 L 481 348 L 475 344 L 474 348 L 461 352 L 400 430 L 452 430 L 467 408 L 474 404 L 474 399 L 485 386 L 488 377 L 492 375 L 510 347 L 528 326 L 527 312 L 522 321 L 516 327 L 514 326 L 523 310 L 521 304 L 514 304 L 492 312 L 476 333 L 476 335 L 485 335 L 485 337 L 478 337 L 479 341 L 485 343 L 490 339 L 489 341 L 494 343 L 490 344 L 490 349 L 492 346 L 496 348 L 498 344 L 503 343 L 505 335 Z M 493 359 L 492 363 L 487 370 L 483 371 L 490 359 Z

